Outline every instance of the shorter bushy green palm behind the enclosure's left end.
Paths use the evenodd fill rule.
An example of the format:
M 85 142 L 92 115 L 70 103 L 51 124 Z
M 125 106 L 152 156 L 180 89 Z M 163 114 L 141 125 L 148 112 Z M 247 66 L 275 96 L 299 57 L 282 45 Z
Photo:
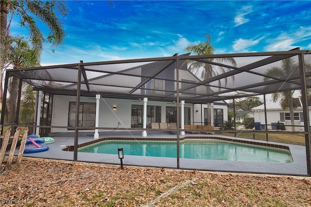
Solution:
M 8 50 L 8 63 L 13 66 L 14 69 L 19 69 L 23 67 L 34 67 L 40 65 L 40 52 L 36 50 L 35 48 L 30 48 L 27 41 L 25 41 L 21 37 L 10 37 L 10 47 Z M 18 93 L 18 83 L 19 80 L 15 77 L 10 77 L 10 87 L 9 93 L 10 96 L 8 98 L 6 107 L 9 111 L 7 113 L 7 120 L 8 123 L 15 123 L 15 112 L 17 107 L 17 93 Z M 16 87 L 17 86 L 17 87 Z M 28 112 L 29 116 L 31 116 L 31 112 L 33 110 L 27 110 L 27 107 L 25 106 L 25 103 L 28 103 L 28 107 L 34 106 L 34 93 L 29 92 L 29 87 L 24 86 L 25 89 L 28 88 L 28 91 L 26 90 L 26 93 L 23 94 L 23 97 L 25 100 L 21 101 L 21 113 L 25 114 Z M 27 100 L 28 99 L 28 100 Z M 32 102 L 31 102 L 32 101 Z M 25 109 L 26 111 L 23 111 Z M 24 119 L 29 119 L 25 118 Z M 25 120 L 24 120 L 25 121 Z

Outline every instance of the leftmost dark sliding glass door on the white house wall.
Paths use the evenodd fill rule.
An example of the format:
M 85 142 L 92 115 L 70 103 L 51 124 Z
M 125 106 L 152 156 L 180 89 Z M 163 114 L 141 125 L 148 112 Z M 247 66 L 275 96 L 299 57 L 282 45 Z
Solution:
M 69 102 L 68 127 L 76 124 L 76 102 Z M 79 107 L 79 127 L 95 127 L 96 103 L 80 103 Z

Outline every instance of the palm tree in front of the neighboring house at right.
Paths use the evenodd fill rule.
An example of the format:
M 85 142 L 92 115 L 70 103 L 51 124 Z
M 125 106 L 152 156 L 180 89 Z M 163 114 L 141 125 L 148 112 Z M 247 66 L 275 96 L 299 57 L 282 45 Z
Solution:
M 305 64 L 306 70 L 311 70 L 310 64 Z M 265 75 L 275 78 L 290 77 L 291 75 L 299 74 L 299 64 L 294 62 L 293 58 L 287 58 L 282 60 L 281 67 L 273 66 L 265 72 Z M 272 80 L 272 78 L 264 77 L 263 81 Z M 292 131 L 295 130 L 294 127 L 294 109 L 299 105 L 299 101 L 293 98 L 294 91 L 285 91 L 272 94 L 273 102 L 280 99 L 280 105 L 282 109 L 289 109 L 291 116 Z

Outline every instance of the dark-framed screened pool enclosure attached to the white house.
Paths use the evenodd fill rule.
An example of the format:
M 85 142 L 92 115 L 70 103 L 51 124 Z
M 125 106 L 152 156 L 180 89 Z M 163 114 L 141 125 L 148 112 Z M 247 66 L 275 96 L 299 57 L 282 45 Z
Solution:
M 291 60 L 291 64 L 286 65 L 288 63 L 286 60 Z M 311 88 L 310 64 L 311 52 L 295 48 L 277 52 L 197 56 L 175 54 L 172 57 L 93 63 L 80 61 L 74 64 L 10 69 L 6 71 L 0 124 L 33 127 L 36 133 L 42 133 L 41 136 L 48 136 L 51 132 L 54 134 L 70 132 L 74 134 L 73 160 L 80 160 L 79 134 L 84 131 L 95 131 L 95 134 L 105 131 L 123 131 L 124 134 L 139 132 L 141 137 L 146 138 L 149 132 L 155 134 L 165 131 L 174 136 L 177 146 L 175 167 L 183 168 L 180 167 L 182 160 L 180 160 L 179 140 L 180 136 L 191 132 L 185 125 L 193 125 L 199 111 L 195 110 L 196 106 L 206 104 L 211 108 L 216 107 L 217 102 L 222 103 L 225 100 L 300 90 L 305 124 L 304 131 L 299 133 L 305 136 L 307 174 L 311 175 L 311 132 L 307 97 L 308 89 Z M 283 70 L 281 73 L 273 73 L 272 68 Z M 19 80 L 19 87 L 17 100 L 14 102 L 16 105 L 14 121 L 8 121 L 12 120 L 12 117 L 8 118 L 8 114 L 12 114 L 8 109 L 14 109 L 12 106 L 6 108 L 8 100 L 13 97 L 8 90 L 12 88 L 8 86 L 13 77 Z M 34 114 L 34 124 L 18 121 L 24 82 L 32 85 L 39 100 L 36 104 L 36 111 L 39 112 Z M 95 118 L 88 118 L 87 114 L 83 113 L 84 117 L 81 116 L 81 110 L 87 111 L 90 107 L 81 107 L 81 104 L 87 105 L 88 102 L 93 103 Z M 99 102 L 102 105 L 99 105 Z M 70 104 L 72 107 L 69 107 Z M 133 124 L 133 105 L 140 105 L 141 114 L 144 114 L 134 120 L 140 124 L 136 127 Z M 158 114 L 155 115 L 158 118 L 151 121 L 147 111 L 149 109 L 147 106 L 150 105 L 153 106 L 150 113 Z M 168 106 L 174 107 L 171 111 L 173 121 L 165 114 L 168 110 L 161 112 L 160 108 L 157 108 L 168 109 Z M 104 107 L 107 108 L 106 111 L 103 111 Z M 190 109 L 188 121 L 184 118 L 185 111 L 188 113 L 187 108 Z M 208 114 L 206 120 L 200 124 L 216 126 L 215 122 L 218 119 L 214 117 L 215 113 L 210 112 L 210 109 L 199 112 Z M 220 120 L 223 122 L 225 118 Z M 87 124 L 87 121 L 91 124 Z M 146 122 L 149 124 L 173 122 L 176 127 L 154 128 Z M 204 129 L 201 129 L 201 132 L 204 132 Z M 200 132 L 200 129 L 195 131 Z M 255 132 L 266 131 L 267 128 Z M 96 138 L 101 138 L 101 135 Z

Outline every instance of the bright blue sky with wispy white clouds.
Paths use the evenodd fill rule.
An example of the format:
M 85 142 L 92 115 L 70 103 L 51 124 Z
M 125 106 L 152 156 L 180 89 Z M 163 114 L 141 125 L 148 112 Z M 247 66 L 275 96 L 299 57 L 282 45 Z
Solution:
M 183 54 L 209 33 L 215 54 L 311 49 L 311 1 L 65 2 L 63 44 L 42 65 Z M 45 27 L 41 27 L 43 31 Z M 12 34 L 27 35 L 17 22 Z M 48 31 L 46 31 L 48 32 Z

